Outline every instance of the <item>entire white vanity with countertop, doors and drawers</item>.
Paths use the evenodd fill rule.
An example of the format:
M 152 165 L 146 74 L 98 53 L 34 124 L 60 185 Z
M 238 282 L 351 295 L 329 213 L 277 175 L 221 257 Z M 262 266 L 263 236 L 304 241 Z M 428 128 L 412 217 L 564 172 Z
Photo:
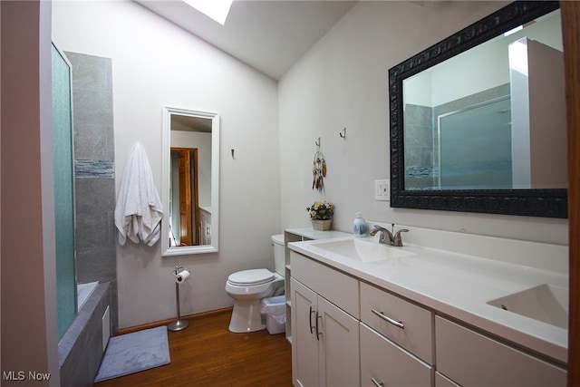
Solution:
M 295 386 L 565 387 L 564 330 L 486 303 L 514 286 L 565 287 L 566 248 L 477 236 L 458 245 L 466 236 L 415 233 L 436 243 L 410 243 L 408 259 L 383 262 L 362 259 L 377 252 L 348 238 L 291 243 Z M 448 245 L 457 251 L 437 248 Z

